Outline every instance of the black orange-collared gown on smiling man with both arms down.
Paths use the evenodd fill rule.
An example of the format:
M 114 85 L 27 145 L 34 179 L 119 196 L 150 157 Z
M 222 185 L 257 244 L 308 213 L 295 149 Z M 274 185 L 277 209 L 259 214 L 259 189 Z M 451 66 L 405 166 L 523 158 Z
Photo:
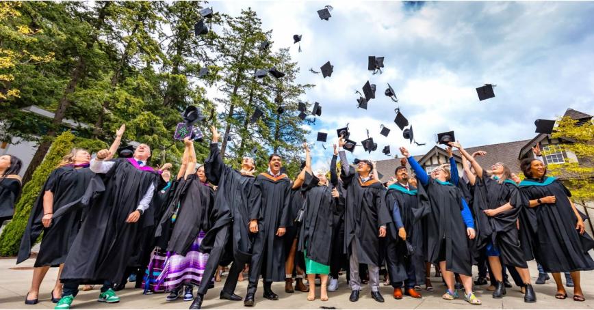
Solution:
M 250 219 L 258 219 L 259 229 L 250 268 L 260 268 L 255 272 L 260 271 L 265 282 L 285 281 L 285 238 L 276 236 L 276 231 L 292 226 L 291 181 L 284 173 L 275 178 L 265 172 L 256 177 L 256 183 L 261 191 L 261 203 L 250 212 Z M 250 282 L 255 281 L 257 274 L 250 272 Z

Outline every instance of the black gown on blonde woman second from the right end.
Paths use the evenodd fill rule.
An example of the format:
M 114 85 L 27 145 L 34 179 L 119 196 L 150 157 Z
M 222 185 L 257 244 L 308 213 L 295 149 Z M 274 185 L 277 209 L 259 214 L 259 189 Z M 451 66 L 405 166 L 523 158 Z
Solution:
M 503 264 L 528 268 L 517 229 L 519 213 L 527 201 L 515 182 L 505 180 L 500 184 L 483 171 L 482 176 L 476 178 L 474 193 L 473 209 L 476 214 L 484 215 L 483 211 L 499 208 L 508 202 L 513 206 L 513 209 L 495 216 L 477 216 L 477 249 L 482 250 L 491 242 L 500 251 Z

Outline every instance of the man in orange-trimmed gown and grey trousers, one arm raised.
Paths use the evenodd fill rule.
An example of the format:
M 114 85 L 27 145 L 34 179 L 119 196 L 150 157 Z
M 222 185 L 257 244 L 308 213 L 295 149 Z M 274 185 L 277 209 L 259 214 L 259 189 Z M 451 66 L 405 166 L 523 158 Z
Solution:
M 346 144 L 344 137 L 339 139 L 339 147 Z M 386 236 L 386 225 L 391 216 L 385 206 L 384 187 L 372 176 L 372 163 L 361 160 L 357 169 L 350 167 L 344 150 L 339 150 L 341 160 L 341 180 L 346 188 L 346 211 L 344 216 L 344 246 L 349 257 L 350 287 L 349 300 L 359 300 L 361 279 L 359 264 L 366 264 L 370 278 L 372 298 L 384 302 L 379 292 L 379 266 L 383 253 L 380 238 Z

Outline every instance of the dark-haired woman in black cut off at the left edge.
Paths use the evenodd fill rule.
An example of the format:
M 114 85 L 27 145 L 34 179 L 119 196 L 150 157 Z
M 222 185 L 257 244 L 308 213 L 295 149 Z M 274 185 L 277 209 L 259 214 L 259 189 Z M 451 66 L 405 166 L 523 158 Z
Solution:
M 0 156 L 0 227 L 12 219 L 14 204 L 21 196 L 21 172 L 23 162 L 16 156 Z

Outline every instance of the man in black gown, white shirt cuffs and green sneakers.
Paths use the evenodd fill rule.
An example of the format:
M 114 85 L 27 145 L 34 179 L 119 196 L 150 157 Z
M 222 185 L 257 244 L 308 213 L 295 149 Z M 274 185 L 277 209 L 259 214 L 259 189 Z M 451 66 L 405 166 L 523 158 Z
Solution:
M 109 150 L 97 152 L 90 169 L 103 182 L 90 182 L 81 204 L 98 195 L 86 208 L 86 219 L 70 247 L 60 281 L 64 283 L 62 299 L 55 309 L 70 309 L 80 283 L 103 283 L 100 302 L 119 302 L 113 290 L 124 276 L 142 229 L 142 214 L 151 206 L 159 174 L 147 165 L 151 148 L 136 147 L 132 158 L 105 160 Z M 73 212 L 80 203 L 54 212 L 54 218 Z

